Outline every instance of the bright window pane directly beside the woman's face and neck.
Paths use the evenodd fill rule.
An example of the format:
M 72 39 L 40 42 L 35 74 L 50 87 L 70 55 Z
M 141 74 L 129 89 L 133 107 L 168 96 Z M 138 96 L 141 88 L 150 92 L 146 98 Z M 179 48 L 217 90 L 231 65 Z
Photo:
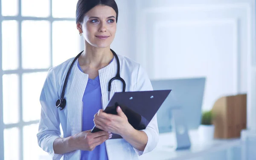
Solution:
M 81 37 L 75 21 L 55 21 L 52 24 L 52 62 L 56 66 L 75 57 L 81 51 Z

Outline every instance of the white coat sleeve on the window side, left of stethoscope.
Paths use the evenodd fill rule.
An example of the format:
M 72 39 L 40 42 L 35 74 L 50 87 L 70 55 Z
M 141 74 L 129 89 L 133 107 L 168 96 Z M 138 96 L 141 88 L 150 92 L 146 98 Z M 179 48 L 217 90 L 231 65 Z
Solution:
M 62 154 L 54 154 L 53 142 L 61 136 L 60 119 L 55 102 L 58 99 L 56 80 L 53 69 L 49 69 L 41 91 L 41 119 L 38 128 L 38 145 L 48 152 L 52 160 L 60 160 Z

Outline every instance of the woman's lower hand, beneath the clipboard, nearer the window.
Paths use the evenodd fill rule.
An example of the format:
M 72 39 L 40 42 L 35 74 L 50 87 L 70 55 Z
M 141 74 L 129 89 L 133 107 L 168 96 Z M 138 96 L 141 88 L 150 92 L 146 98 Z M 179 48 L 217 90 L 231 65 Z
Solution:
M 95 133 L 91 133 L 91 130 L 82 131 L 73 136 L 72 146 L 74 147 L 74 150 L 93 151 L 96 146 L 104 143 L 111 137 L 112 134 L 107 131 L 98 131 Z

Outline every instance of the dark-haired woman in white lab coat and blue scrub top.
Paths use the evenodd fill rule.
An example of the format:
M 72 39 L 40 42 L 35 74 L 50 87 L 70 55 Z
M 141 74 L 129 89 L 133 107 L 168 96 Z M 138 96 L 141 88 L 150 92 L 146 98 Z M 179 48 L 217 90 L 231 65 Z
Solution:
M 117 115 L 102 112 L 113 93 L 123 90 L 123 83 L 114 80 L 108 92 L 108 82 L 116 76 L 118 64 L 126 91 L 152 90 L 147 74 L 138 63 L 117 56 L 110 49 L 117 19 L 114 0 L 77 3 L 76 24 L 84 37 L 84 51 L 77 59 L 71 58 L 49 69 L 40 97 L 38 144 L 54 160 L 63 155 L 64 160 L 135 160 L 157 146 L 156 115 L 146 129 L 138 131 L 128 123 L 120 107 Z M 64 87 L 65 101 L 59 99 Z M 94 125 L 103 131 L 91 133 Z M 122 139 L 111 139 L 112 133 L 121 135 Z

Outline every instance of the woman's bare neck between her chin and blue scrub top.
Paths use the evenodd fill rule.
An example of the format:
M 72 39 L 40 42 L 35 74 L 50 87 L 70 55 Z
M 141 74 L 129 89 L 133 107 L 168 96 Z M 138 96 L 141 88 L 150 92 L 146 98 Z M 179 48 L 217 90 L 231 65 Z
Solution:
M 102 68 L 107 66 L 113 59 L 110 46 L 107 48 L 96 48 L 86 44 L 84 52 L 79 57 L 80 66 L 89 66 L 90 68 Z

